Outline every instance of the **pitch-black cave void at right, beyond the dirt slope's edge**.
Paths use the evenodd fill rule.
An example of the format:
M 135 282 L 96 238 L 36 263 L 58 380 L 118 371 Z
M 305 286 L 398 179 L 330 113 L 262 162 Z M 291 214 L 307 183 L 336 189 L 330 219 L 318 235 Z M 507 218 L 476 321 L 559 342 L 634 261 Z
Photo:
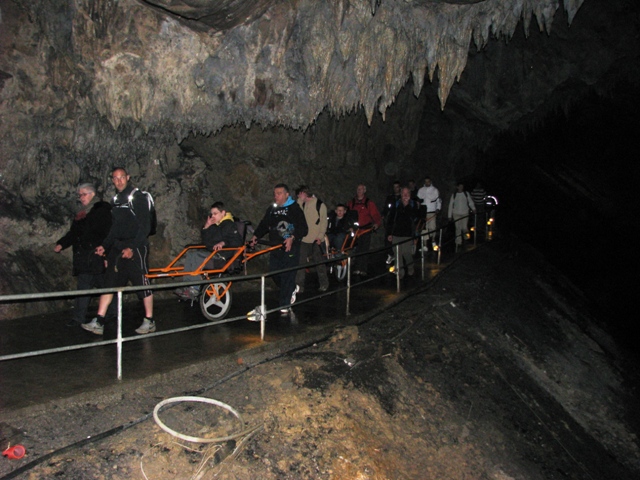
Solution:
M 533 132 L 502 135 L 484 154 L 500 220 L 582 288 L 614 335 L 640 339 L 640 92 L 618 85 L 592 94 Z

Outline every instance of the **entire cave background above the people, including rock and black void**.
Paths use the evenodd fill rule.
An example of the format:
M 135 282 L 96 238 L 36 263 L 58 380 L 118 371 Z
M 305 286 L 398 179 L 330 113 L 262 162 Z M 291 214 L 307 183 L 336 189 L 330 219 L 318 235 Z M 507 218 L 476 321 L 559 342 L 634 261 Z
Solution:
M 215 200 L 257 222 L 279 182 L 327 205 L 429 174 L 482 181 L 501 228 L 608 311 L 637 271 L 637 2 L 3 0 L 0 292 L 68 290 L 75 187 L 153 193 L 152 263 Z M 56 274 L 52 274 L 56 272 Z M 60 305 L 58 305 L 59 307 Z M 3 304 L 5 317 L 51 304 Z

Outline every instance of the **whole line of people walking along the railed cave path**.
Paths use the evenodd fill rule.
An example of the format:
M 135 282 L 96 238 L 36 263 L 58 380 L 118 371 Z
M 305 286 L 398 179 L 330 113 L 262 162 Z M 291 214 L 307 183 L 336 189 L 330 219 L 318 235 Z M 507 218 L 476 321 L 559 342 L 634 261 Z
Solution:
M 69 232 L 54 248 L 61 252 L 73 247 L 73 273 L 78 277 L 79 290 L 117 288 L 131 283 L 148 286 L 149 240 L 152 230 L 152 202 L 147 192 L 142 192 L 130 183 L 127 171 L 118 167 L 112 171 L 111 180 L 116 195 L 111 203 L 101 201 L 96 196 L 95 186 L 83 183 L 77 194 L 80 209 L 75 215 Z M 478 190 L 480 189 L 480 190 Z M 464 184 L 457 185 L 449 202 L 448 217 L 455 221 L 456 244 L 461 244 L 467 231 L 467 216 L 476 211 L 476 201 L 484 202 L 486 192 L 479 186 L 472 194 L 465 192 Z M 366 232 L 358 237 L 358 253 L 370 250 L 372 233 L 381 227 L 385 229 L 385 242 L 391 247 L 399 246 L 400 277 L 414 274 L 414 245 L 408 240 L 423 234 L 427 239 L 423 248 L 429 248 L 429 234 L 437 229 L 436 219 L 442 208 L 440 192 L 432 184 L 430 177 L 424 178 L 421 188 L 413 182 L 402 187 L 394 182 L 393 192 L 387 197 L 382 213 L 375 202 L 367 197 L 367 187 L 360 184 L 355 196 L 346 203 L 339 203 L 329 211 L 320 198 L 311 193 L 306 185 L 295 190 L 295 198 L 289 187 L 280 183 L 273 188 L 274 204 L 265 211 L 260 223 L 249 240 L 253 247 L 258 240 L 268 235 L 269 243 L 282 245 L 269 257 L 269 270 L 279 271 L 301 267 L 273 276 L 279 287 L 278 303 L 282 316 L 291 314 L 290 305 L 305 288 L 307 264 L 321 262 L 327 249 L 340 251 L 348 235 L 357 229 Z M 482 197 L 482 198 L 480 198 Z M 241 247 L 243 235 L 238 231 L 231 212 L 222 202 L 211 205 L 209 215 L 201 230 L 204 249 L 190 250 L 184 261 L 184 271 L 193 272 L 203 266 L 206 269 L 221 269 L 233 255 L 229 249 Z M 211 256 L 211 253 L 215 254 Z M 207 260 L 207 258 L 209 258 Z M 390 258 L 393 254 L 390 254 Z M 202 265 L 207 261 L 206 265 Z M 389 261 L 387 263 L 391 263 Z M 369 256 L 358 256 L 353 273 L 366 276 Z M 325 265 L 315 267 L 319 281 L 319 291 L 329 288 L 329 278 Z M 192 281 L 190 276 L 183 277 Z M 153 320 L 153 291 L 141 289 L 137 292 L 142 300 L 145 316 L 136 329 L 139 334 L 156 330 Z M 175 292 L 182 298 L 195 299 L 199 295 L 198 286 L 179 288 Z M 112 316 L 113 294 L 100 296 L 98 312 L 91 321 L 86 320 L 89 296 L 76 298 L 74 317 L 69 325 L 80 325 L 89 332 L 102 335 L 106 318 Z

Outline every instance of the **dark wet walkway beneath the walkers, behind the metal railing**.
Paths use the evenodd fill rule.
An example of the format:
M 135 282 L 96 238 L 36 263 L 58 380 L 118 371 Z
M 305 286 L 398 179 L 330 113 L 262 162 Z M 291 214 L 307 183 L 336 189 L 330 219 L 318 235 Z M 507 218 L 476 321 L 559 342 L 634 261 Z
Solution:
M 378 261 L 382 278 L 362 282 L 352 280 L 349 311 L 351 316 L 366 314 L 392 301 L 396 296 L 396 280 L 384 275 L 384 260 Z M 440 267 L 425 265 L 425 279 L 434 276 Z M 178 301 L 177 298 L 156 300 L 155 313 L 158 331 L 192 325 L 208 325 L 171 335 L 153 338 L 137 337 L 134 330 L 140 324 L 143 310 L 139 303 L 127 304 L 123 309 L 123 335 L 137 337 L 123 346 L 123 381 L 144 378 L 185 367 L 217 356 L 277 342 L 294 334 L 312 332 L 318 327 L 344 323 L 347 293 L 339 290 L 344 283 L 331 280 L 331 295 L 307 301 L 318 295 L 315 276 L 309 275 L 306 291 L 299 295 L 293 307 L 294 316 L 281 318 L 269 315 L 264 341 L 260 339 L 260 323 L 246 319 L 211 325 L 201 314 L 197 303 Z M 358 283 L 362 283 L 358 287 Z M 420 272 L 403 280 L 403 288 L 422 284 Z M 268 285 L 271 285 L 270 281 Z M 95 301 L 92 307 L 95 308 Z M 234 292 L 231 311 L 227 318 L 244 317 L 260 304 L 258 287 L 242 286 Z M 276 291 L 267 291 L 266 304 L 277 304 Z M 104 337 L 93 335 L 80 327 L 67 327 L 69 312 L 0 322 L 0 355 L 50 349 L 81 343 L 99 342 L 116 337 L 115 321 L 107 324 Z M 68 397 L 81 392 L 118 383 L 117 350 L 115 345 L 102 345 L 83 350 L 47 354 L 0 362 L 0 408 L 14 409 L 40 404 L 47 400 Z

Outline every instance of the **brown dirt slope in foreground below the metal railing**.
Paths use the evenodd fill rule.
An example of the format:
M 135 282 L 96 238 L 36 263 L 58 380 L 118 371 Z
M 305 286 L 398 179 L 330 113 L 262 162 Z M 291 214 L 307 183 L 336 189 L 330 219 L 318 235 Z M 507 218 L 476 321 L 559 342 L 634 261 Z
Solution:
M 570 282 L 495 242 L 329 337 L 11 412 L 29 455 L 0 475 L 636 479 L 636 370 Z M 158 419 L 218 440 L 154 421 L 183 395 L 226 406 L 176 401 Z

